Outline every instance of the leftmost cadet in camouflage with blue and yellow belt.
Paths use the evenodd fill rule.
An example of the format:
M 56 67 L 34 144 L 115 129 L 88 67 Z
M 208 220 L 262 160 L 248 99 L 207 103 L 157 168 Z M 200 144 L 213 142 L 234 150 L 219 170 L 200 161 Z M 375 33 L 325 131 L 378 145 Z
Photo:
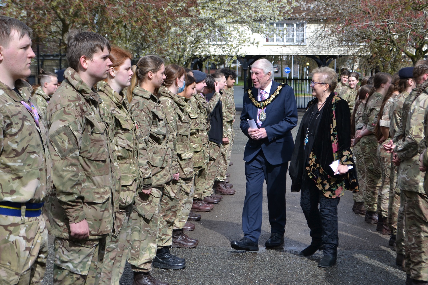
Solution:
M 52 188 L 48 128 L 31 111 L 33 89 L 20 79 L 31 74 L 30 37 L 27 25 L 0 16 L 7 58 L 0 61 L 0 284 L 41 284 L 48 256 L 41 210 Z

